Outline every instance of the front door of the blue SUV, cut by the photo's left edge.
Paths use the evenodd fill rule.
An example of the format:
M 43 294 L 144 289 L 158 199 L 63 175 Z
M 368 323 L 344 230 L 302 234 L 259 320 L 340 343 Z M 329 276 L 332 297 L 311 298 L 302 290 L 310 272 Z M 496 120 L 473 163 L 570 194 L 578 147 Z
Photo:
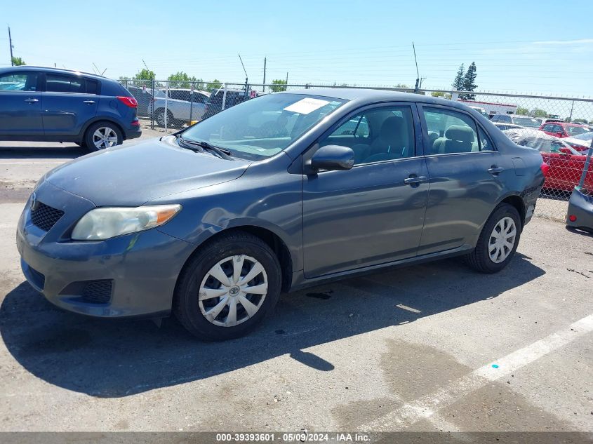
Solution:
M 43 135 L 39 84 L 39 72 L 0 75 L 0 137 Z

